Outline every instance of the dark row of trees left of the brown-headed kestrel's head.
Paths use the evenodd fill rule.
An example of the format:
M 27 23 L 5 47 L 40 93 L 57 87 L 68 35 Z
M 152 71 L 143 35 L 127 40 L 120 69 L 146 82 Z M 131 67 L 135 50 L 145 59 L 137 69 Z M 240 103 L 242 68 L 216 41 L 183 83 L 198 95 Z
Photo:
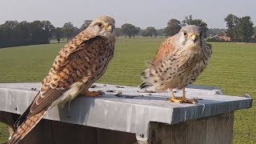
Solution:
M 0 25 L 0 48 L 47 44 L 53 38 L 58 42 L 61 38 L 69 41 L 70 38 L 85 30 L 90 22 L 92 21 L 86 20 L 78 28 L 72 22 L 66 22 L 62 27 L 54 27 L 50 21 L 6 21 Z

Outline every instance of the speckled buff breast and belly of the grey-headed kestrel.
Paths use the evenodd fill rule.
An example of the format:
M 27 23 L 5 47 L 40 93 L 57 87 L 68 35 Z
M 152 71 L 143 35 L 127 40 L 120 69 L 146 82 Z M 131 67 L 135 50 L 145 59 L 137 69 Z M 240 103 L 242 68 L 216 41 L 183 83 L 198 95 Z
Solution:
M 167 86 L 182 89 L 202 73 L 206 68 L 206 59 L 202 57 L 202 51 L 191 52 L 184 51 L 171 56 L 166 62 L 163 62 L 162 79 L 166 79 Z

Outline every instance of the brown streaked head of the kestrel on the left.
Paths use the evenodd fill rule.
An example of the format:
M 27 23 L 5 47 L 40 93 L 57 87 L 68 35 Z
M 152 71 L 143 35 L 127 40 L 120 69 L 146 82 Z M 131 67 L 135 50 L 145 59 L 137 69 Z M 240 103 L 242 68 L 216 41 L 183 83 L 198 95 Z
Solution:
M 90 30 L 95 35 L 104 36 L 112 40 L 114 38 L 114 25 L 114 18 L 103 15 L 91 22 L 87 30 Z

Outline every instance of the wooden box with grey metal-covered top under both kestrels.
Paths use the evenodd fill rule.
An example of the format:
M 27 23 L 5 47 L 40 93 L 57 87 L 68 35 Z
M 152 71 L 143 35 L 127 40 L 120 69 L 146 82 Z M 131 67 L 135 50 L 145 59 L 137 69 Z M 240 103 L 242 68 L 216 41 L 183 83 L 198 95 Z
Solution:
M 38 83 L 0 84 L 0 121 L 12 126 L 38 87 Z M 93 90 L 106 94 L 76 98 L 70 113 L 68 106 L 54 107 L 21 143 L 229 144 L 234 110 L 252 105 L 251 98 L 225 96 L 214 87 L 186 89 L 188 98 L 202 98 L 197 105 L 170 103 L 169 93 L 139 93 L 129 86 L 96 84 Z

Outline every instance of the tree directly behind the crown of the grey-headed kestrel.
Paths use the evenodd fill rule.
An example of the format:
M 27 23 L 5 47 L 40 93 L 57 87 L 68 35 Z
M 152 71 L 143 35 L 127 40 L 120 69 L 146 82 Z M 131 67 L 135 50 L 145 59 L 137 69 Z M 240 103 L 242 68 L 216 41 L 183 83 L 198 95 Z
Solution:
M 203 22 L 202 19 L 193 19 L 192 15 L 185 17 L 185 19 L 182 21 L 182 26 L 186 25 L 195 25 L 202 27 L 202 33 L 203 37 L 206 38 L 206 32 L 208 30 L 206 22 Z

